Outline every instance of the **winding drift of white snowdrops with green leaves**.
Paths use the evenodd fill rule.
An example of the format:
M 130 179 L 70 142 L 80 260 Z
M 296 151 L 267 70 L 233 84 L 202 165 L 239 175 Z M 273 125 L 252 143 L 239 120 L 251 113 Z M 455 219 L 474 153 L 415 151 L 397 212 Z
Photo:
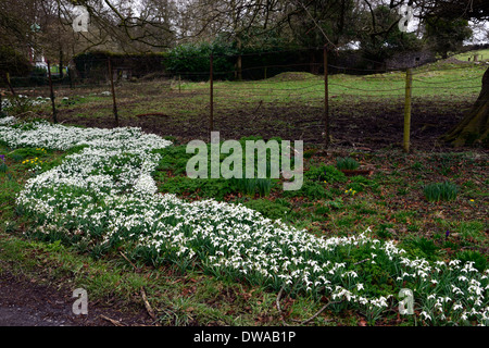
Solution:
M 472 262 L 410 259 L 368 231 L 319 238 L 240 204 L 159 194 L 151 174 L 164 154 L 154 150 L 172 144 L 139 128 L 22 124 L 9 117 L 0 119 L 0 141 L 11 148 L 79 147 L 28 179 L 17 197 L 17 210 L 48 236 L 102 251 L 124 245 L 130 257 L 154 264 L 197 265 L 217 277 L 325 296 L 336 302 L 331 310 L 354 309 L 371 322 L 397 309 L 399 291 L 409 288 L 418 322 L 488 323 L 489 272 Z M 379 282 L 390 284 L 391 293 Z

